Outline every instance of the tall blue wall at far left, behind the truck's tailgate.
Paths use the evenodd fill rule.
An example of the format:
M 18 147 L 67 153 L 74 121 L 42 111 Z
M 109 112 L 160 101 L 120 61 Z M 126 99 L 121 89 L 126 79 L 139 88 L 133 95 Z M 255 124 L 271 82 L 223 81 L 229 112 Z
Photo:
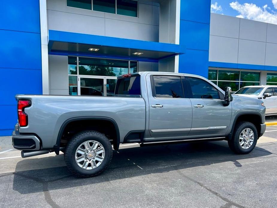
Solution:
M 1 1 L 0 136 L 11 135 L 17 122 L 15 94 L 41 94 L 39 0 Z

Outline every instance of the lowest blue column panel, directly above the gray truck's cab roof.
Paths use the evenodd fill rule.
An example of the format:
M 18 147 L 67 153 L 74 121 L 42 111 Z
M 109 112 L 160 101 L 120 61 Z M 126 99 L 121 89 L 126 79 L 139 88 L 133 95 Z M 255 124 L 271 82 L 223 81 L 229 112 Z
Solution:
M 208 78 L 209 52 L 187 49 L 179 56 L 179 73 L 197 74 Z

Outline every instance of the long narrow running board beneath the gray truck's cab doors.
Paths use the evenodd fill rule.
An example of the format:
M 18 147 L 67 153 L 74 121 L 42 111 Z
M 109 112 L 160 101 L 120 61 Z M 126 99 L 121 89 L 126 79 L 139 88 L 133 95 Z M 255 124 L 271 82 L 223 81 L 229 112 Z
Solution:
M 140 147 L 165 145 L 165 144 L 192 143 L 192 142 L 202 142 L 202 141 L 221 141 L 225 139 L 226 137 L 213 137 L 213 138 L 184 139 L 184 140 L 173 140 L 173 141 L 155 141 L 155 142 L 141 143 Z

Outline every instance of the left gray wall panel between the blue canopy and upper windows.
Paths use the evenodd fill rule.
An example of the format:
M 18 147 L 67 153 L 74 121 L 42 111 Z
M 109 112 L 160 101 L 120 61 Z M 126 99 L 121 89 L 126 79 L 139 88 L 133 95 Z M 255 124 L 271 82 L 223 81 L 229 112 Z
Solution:
M 104 25 L 104 18 L 48 10 L 49 30 L 105 35 Z

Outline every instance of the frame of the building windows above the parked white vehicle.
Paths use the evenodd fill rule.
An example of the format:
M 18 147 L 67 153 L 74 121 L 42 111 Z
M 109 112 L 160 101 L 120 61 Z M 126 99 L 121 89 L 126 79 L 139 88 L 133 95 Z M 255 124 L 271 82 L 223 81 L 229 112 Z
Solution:
M 217 68 L 215 68 L 215 67 L 209 67 L 208 70 L 216 70 L 217 71 L 217 79 L 216 80 L 215 79 L 209 79 L 211 82 L 216 82 L 216 84 L 215 83 L 214 84 L 217 85 L 217 86 L 218 86 L 218 82 L 238 82 L 239 83 L 239 89 L 241 89 L 242 88 L 241 82 L 251 82 L 251 81 L 240 81 L 241 72 L 258 72 L 258 73 L 260 73 L 260 79 L 259 79 L 259 81 L 252 81 L 252 82 L 258 83 L 258 85 L 261 84 L 261 71 L 258 71 L 258 70 L 253 71 L 253 70 L 232 69 L 232 68 L 227 69 L 227 68 L 218 68 L 218 67 Z M 218 72 L 219 72 L 219 70 L 237 71 L 237 72 L 239 72 L 239 80 L 238 81 L 236 81 L 236 80 L 219 80 L 218 79 Z M 277 85 L 277 82 L 276 82 L 276 85 Z

